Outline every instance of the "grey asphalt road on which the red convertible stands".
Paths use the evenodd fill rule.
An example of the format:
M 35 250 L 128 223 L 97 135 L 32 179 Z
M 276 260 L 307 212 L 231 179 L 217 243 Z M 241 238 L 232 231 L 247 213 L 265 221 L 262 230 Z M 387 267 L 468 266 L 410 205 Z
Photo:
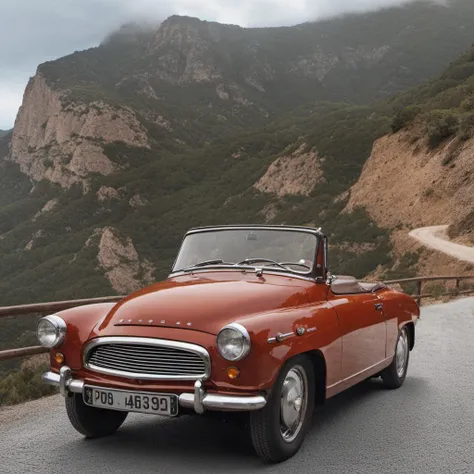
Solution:
M 474 473 L 474 298 L 426 307 L 405 385 L 363 383 L 328 401 L 299 454 L 265 466 L 235 427 L 199 417 L 133 415 L 84 440 L 63 401 L 0 410 L 0 472 Z

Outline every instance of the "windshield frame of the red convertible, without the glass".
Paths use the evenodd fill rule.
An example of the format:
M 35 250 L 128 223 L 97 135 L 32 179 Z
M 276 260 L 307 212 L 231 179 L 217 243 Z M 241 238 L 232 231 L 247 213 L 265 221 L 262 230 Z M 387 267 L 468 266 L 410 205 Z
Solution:
M 191 265 L 189 267 L 183 267 L 183 268 L 176 268 L 176 264 L 178 262 L 179 256 L 183 250 L 184 242 L 186 238 L 190 235 L 193 234 L 199 234 L 199 233 L 210 233 L 210 232 L 219 232 L 219 231 L 281 231 L 281 232 L 295 232 L 295 233 L 306 233 L 306 234 L 311 234 L 315 237 L 316 242 L 315 242 L 315 251 L 314 255 L 312 258 L 312 267 L 311 270 L 309 271 L 298 271 L 298 270 L 293 270 L 290 267 L 285 267 L 281 268 L 277 265 L 265 265 L 263 262 L 262 264 L 255 263 L 255 264 L 241 264 L 239 265 L 237 263 L 216 263 L 216 264 L 210 264 L 210 265 L 205 265 L 205 266 L 200 266 L 200 265 Z M 198 228 L 193 228 L 189 230 L 185 236 L 183 237 L 183 240 L 181 242 L 179 251 L 177 253 L 176 259 L 173 263 L 170 276 L 175 276 L 176 274 L 180 273 L 187 273 L 187 272 L 198 272 L 198 271 L 206 271 L 206 270 L 215 270 L 215 269 L 221 269 L 221 270 L 238 270 L 238 271 L 255 271 L 256 269 L 262 269 L 264 273 L 279 273 L 279 274 L 291 274 L 294 276 L 298 277 L 303 277 L 303 278 L 309 278 L 311 280 L 316 278 L 316 273 L 317 273 L 317 258 L 318 258 L 318 252 L 320 249 L 320 244 L 323 242 L 323 234 L 321 233 L 320 229 L 312 228 L 312 227 L 303 227 L 303 226 L 265 226 L 265 225 L 231 225 L 231 226 L 212 226 L 212 227 L 198 227 Z M 259 257 L 258 255 L 254 255 L 252 257 Z M 201 262 L 200 262 L 201 263 Z

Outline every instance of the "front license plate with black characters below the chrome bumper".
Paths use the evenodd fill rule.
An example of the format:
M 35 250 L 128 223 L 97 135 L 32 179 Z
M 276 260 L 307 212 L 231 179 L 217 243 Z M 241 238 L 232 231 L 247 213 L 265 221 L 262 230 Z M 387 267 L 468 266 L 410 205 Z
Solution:
M 176 416 L 178 396 L 153 392 L 128 392 L 86 385 L 84 403 L 98 408 L 135 411 L 153 415 Z

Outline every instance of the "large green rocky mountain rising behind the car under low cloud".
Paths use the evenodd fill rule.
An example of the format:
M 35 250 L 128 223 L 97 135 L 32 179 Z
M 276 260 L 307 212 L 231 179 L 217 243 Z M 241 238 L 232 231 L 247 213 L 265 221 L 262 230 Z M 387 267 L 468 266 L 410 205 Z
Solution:
M 389 265 L 390 229 L 341 212 L 347 191 L 409 96 L 386 99 L 473 20 L 466 0 L 290 28 L 171 17 L 41 65 L 3 140 L 2 304 L 129 292 L 204 224 L 322 225 L 334 271 Z

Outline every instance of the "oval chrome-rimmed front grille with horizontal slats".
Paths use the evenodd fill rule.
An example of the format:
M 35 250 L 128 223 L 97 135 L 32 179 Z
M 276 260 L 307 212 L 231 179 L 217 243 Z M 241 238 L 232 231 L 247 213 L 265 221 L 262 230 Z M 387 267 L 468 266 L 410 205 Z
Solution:
M 104 337 L 84 351 L 95 372 L 133 379 L 198 380 L 209 377 L 209 354 L 201 346 L 148 338 Z

